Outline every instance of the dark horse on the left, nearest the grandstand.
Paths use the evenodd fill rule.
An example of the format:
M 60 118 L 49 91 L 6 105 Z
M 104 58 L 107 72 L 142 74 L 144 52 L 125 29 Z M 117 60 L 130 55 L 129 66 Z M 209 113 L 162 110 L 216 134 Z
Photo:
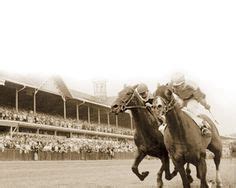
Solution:
M 157 173 L 157 186 L 162 187 L 162 173 L 165 171 L 165 178 L 172 179 L 176 175 L 174 170 L 170 173 L 169 156 L 164 145 L 163 135 L 158 130 L 158 121 L 152 110 L 148 110 L 143 100 L 135 90 L 137 86 L 126 87 L 119 92 L 118 98 L 111 106 L 112 112 L 118 114 L 130 109 L 134 119 L 135 135 L 134 142 L 137 146 L 137 155 L 132 165 L 132 171 L 143 181 L 149 174 L 148 171 L 140 174 L 138 170 L 139 163 L 146 155 L 157 157 L 161 160 L 162 166 Z

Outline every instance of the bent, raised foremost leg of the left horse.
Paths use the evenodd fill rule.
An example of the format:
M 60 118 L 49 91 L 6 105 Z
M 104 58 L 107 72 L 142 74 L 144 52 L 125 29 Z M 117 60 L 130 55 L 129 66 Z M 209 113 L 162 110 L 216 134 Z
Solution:
M 144 159 L 145 156 L 146 156 L 146 154 L 143 151 L 138 150 L 135 160 L 134 160 L 134 163 L 132 165 L 133 173 L 135 173 L 141 181 L 143 181 L 149 174 L 148 171 L 142 172 L 142 174 L 140 174 L 139 170 L 138 170 L 138 165 Z

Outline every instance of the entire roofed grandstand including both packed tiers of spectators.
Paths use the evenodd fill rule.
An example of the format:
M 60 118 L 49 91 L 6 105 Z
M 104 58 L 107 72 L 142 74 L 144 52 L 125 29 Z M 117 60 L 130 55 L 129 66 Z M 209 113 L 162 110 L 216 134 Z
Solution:
M 45 148 L 47 152 L 92 151 L 109 155 L 129 152 L 132 153 L 129 157 L 133 156 L 132 116 L 111 113 L 112 100 L 72 90 L 58 76 L 44 78 L 0 72 L 0 150 L 9 149 L 11 153 L 1 154 L 0 159 L 17 156 L 15 149 L 21 153 L 36 152 L 45 159 L 40 154 L 46 152 Z M 235 138 L 222 136 L 222 139 L 225 156 L 230 156 L 228 146 Z M 73 144 L 78 148 L 73 149 Z M 97 158 L 100 157 L 96 154 Z

